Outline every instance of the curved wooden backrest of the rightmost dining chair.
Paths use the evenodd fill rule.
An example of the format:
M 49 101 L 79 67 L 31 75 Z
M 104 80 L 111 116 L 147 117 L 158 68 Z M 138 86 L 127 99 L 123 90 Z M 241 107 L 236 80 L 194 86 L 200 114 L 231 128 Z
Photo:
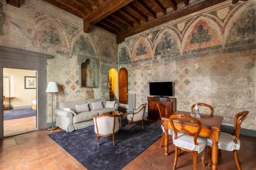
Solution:
M 235 143 L 238 143 L 239 135 L 240 135 L 240 129 L 242 122 L 246 119 L 247 115 L 249 114 L 248 111 L 243 111 L 234 117 L 234 132 L 233 135 L 236 137 L 233 141 Z

